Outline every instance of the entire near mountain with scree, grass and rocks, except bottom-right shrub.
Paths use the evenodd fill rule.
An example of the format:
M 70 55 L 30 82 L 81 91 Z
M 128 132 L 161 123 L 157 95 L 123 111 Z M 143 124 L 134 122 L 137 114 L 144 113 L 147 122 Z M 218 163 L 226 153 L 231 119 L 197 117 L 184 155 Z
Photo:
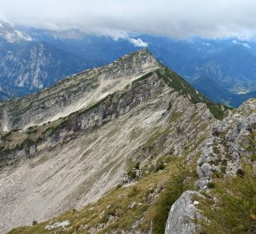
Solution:
M 215 180 L 253 165 L 255 107 L 214 104 L 148 49 L 1 102 L 0 232 L 200 233 Z

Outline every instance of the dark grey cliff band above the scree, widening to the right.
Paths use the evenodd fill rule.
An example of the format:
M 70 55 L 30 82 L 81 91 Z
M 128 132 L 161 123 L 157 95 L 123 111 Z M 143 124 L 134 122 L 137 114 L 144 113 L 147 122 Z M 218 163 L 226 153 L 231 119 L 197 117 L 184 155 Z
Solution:
M 52 132 L 51 123 L 49 125 L 45 124 L 44 130 L 42 130 L 44 133 L 41 137 L 42 140 L 39 140 L 38 143 L 35 143 L 37 142 L 36 138 L 34 143 L 32 142 L 31 144 L 10 140 L 11 144 L 19 144 L 23 146 L 23 149 L 16 148 L 16 145 L 14 145 L 17 149 L 16 152 L 10 153 L 10 151 L 7 151 L 7 154 L 0 153 L 0 156 L 2 161 L 5 160 L 5 156 L 6 161 L 24 157 L 36 157 L 36 155 L 40 155 L 44 151 L 66 144 L 81 137 L 83 134 L 92 132 L 94 127 L 101 127 L 111 120 L 128 114 L 132 110 L 136 110 L 136 107 L 144 107 L 145 102 L 150 100 L 159 100 L 160 110 L 154 110 L 152 112 L 154 114 L 150 118 L 143 120 L 145 121 L 145 126 L 141 125 L 141 128 L 148 128 L 152 124 L 152 127 L 154 127 L 156 120 L 165 120 L 167 125 L 164 127 L 167 130 L 165 134 L 161 134 L 160 130 L 156 129 L 155 134 L 160 134 L 161 137 L 155 140 L 154 146 L 135 148 L 131 154 L 135 154 L 137 158 L 148 158 L 154 152 L 154 148 L 163 150 L 163 153 L 173 152 L 176 155 L 182 154 L 184 150 L 190 151 L 194 144 L 200 144 L 197 140 L 204 137 L 204 134 L 208 133 L 213 125 L 214 120 L 209 119 L 212 115 L 204 103 L 192 105 L 187 98 L 182 97 L 177 92 L 173 92 L 173 88 L 167 87 L 165 81 L 160 79 L 156 73 L 152 73 L 148 75 L 147 79 L 134 81 L 123 90 L 108 95 L 95 106 L 71 114 L 69 118 L 62 120 L 62 123 L 56 123 L 57 126 L 53 122 L 55 128 Z M 172 108 L 168 107 L 170 103 L 172 103 Z M 3 120 L 7 119 L 8 116 L 5 112 Z M 202 127 L 204 127 L 206 133 L 199 130 Z M 27 131 L 25 130 L 24 132 L 26 133 Z M 19 138 L 25 137 L 22 132 L 23 130 L 19 131 L 19 133 L 23 134 Z M 0 140 L 0 146 L 6 146 L 6 142 L 6 140 L 3 142 Z M 192 144 L 192 142 L 195 143 Z

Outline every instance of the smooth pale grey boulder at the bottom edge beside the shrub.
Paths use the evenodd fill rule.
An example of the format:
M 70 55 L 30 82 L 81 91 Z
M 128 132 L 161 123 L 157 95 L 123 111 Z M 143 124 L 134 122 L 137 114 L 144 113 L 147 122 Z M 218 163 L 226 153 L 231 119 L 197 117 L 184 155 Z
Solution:
M 181 197 L 174 203 L 167 218 L 165 234 L 190 234 L 197 230 L 196 221 L 201 218 L 193 201 L 194 196 L 203 197 L 199 192 L 183 192 Z

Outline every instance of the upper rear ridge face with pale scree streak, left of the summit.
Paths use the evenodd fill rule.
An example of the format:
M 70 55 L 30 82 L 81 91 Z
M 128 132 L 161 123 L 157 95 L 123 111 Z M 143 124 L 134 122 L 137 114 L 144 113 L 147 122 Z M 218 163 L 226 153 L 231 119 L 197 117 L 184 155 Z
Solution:
M 35 115 L 36 108 L 39 106 L 39 107 L 43 108 L 43 112 L 37 109 L 38 114 L 40 114 L 40 113 L 48 114 L 48 116 L 47 116 L 47 118 L 48 118 L 49 113 L 55 111 L 55 110 L 50 110 L 51 108 L 53 108 L 54 104 L 56 106 L 60 106 L 60 105 L 64 106 L 64 109 L 62 109 L 62 112 L 59 115 L 57 115 L 56 117 L 53 117 L 53 119 L 48 119 L 48 120 L 44 120 L 44 121 L 56 120 L 60 117 L 63 117 L 72 112 L 75 112 L 82 107 L 88 107 L 89 105 L 91 105 L 95 101 L 97 101 L 98 99 L 99 100 L 102 99 L 109 92 L 110 93 L 113 92 L 113 91 L 111 91 L 112 88 L 114 88 L 114 90 L 116 90 L 116 88 L 124 88 L 124 86 L 126 86 L 132 80 L 135 80 L 136 77 L 138 78 L 141 75 L 145 75 L 145 73 L 148 72 L 148 70 L 147 70 L 148 65 L 146 64 L 147 62 L 149 62 L 149 64 L 152 64 L 152 66 L 153 66 L 152 68 L 149 68 L 149 71 L 154 69 L 154 66 L 157 66 L 157 64 L 156 64 L 154 58 L 152 57 L 152 55 L 146 54 L 145 51 L 146 50 L 141 50 L 141 55 L 138 55 L 138 57 L 133 56 L 133 54 L 131 54 L 131 57 L 123 56 L 121 58 L 121 60 L 117 60 L 116 62 L 113 62 L 105 67 L 93 68 L 93 69 L 84 71 L 78 75 L 70 76 L 69 79 L 60 81 L 60 82 L 56 83 L 56 85 L 54 85 L 52 88 L 47 88 L 39 93 L 25 96 L 24 98 L 21 98 L 21 99 L 3 102 L 1 105 L 1 108 L 5 109 L 6 107 L 4 107 L 4 105 L 6 104 L 7 106 L 9 106 L 8 109 L 10 110 L 10 107 L 12 107 L 14 105 L 14 107 L 12 108 L 13 111 L 18 110 L 19 114 L 22 114 L 22 113 L 27 113 L 28 107 L 29 108 L 34 107 L 34 110 L 32 112 Z M 142 56 L 144 56 L 144 60 L 142 60 Z M 135 61 L 133 61 L 133 59 L 135 59 Z M 128 60 L 127 68 L 123 68 L 123 70 L 121 71 L 120 63 L 126 62 L 126 60 Z M 132 69 L 130 69 L 131 67 L 129 67 L 129 66 L 133 66 L 132 62 L 138 62 L 138 70 L 133 71 Z M 143 62 L 145 62 L 145 65 L 143 65 Z M 144 68 L 143 66 L 146 66 L 146 67 Z M 140 72 L 141 72 L 140 69 L 144 69 L 142 71 L 142 74 L 140 74 Z M 132 76 L 132 74 L 131 75 L 129 74 L 131 72 L 135 73 L 135 77 L 129 81 L 129 78 Z M 123 74 L 120 74 L 120 73 L 123 73 Z M 129 75 L 129 77 L 128 77 L 128 75 Z M 118 77 L 118 79 L 115 80 L 115 77 Z M 128 77 L 128 79 L 126 77 Z M 104 81 L 104 82 L 102 82 L 102 81 Z M 121 86 L 121 87 L 119 87 L 119 86 Z M 66 92 L 66 87 L 70 88 L 71 91 Z M 73 89 L 74 89 L 73 91 L 72 91 L 71 87 L 73 87 Z M 65 95 L 67 95 L 67 97 Z M 51 103 L 51 105 L 45 104 L 45 101 L 47 101 L 47 96 L 51 96 L 51 97 L 55 96 L 59 100 L 52 99 L 53 103 Z M 72 96 L 72 97 L 70 97 L 70 96 Z M 46 100 L 45 100 L 45 97 L 46 97 Z M 63 103 L 61 102 L 62 104 L 59 104 L 60 98 L 63 102 Z M 38 103 L 40 103 L 40 101 L 41 101 L 41 105 L 38 104 L 36 102 L 36 100 L 39 101 Z M 66 101 L 68 102 L 68 104 L 65 106 L 64 103 Z M 70 102 L 70 101 L 72 101 L 72 102 Z M 74 101 L 75 101 L 75 103 L 74 103 Z M 20 105 L 19 104 L 20 102 L 22 102 L 23 105 Z M 42 105 L 42 102 L 43 102 L 43 105 Z M 72 106 L 71 109 L 69 109 L 69 105 Z M 49 109 L 49 113 L 47 113 L 48 109 Z M 31 119 L 31 116 L 29 116 L 29 118 Z M 37 117 L 35 117 L 35 118 L 37 118 Z M 15 119 L 13 121 L 16 122 L 18 120 Z M 42 124 L 44 122 L 43 120 L 39 120 L 39 121 Z M 10 117 L 10 122 L 11 122 L 11 117 Z M 28 125 L 29 123 L 30 123 L 30 120 L 28 120 L 27 122 L 25 122 L 25 124 L 22 124 L 21 126 L 16 125 L 16 128 L 23 127 L 25 125 Z M 3 126 L 3 124 L 1 126 Z M 2 127 L 2 129 L 3 129 L 3 127 Z

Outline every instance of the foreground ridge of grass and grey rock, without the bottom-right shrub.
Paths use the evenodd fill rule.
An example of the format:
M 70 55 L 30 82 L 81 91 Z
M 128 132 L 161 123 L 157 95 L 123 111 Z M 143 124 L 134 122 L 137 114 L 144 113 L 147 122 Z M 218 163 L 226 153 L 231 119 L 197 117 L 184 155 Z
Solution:
M 183 101 L 181 103 L 185 104 Z M 154 231 L 162 233 L 164 227 L 160 225 L 164 226 L 166 220 L 165 233 L 167 234 L 174 232 L 200 233 L 201 228 L 209 231 L 208 228 L 211 223 L 203 223 L 204 212 L 199 209 L 202 209 L 201 205 L 207 205 L 207 207 L 213 205 L 210 207 L 214 207 L 216 201 L 213 203 L 212 192 L 214 191 L 213 185 L 217 183 L 215 181 L 220 180 L 221 183 L 223 181 L 226 183 L 226 179 L 230 176 L 237 172 L 243 172 L 241 164 L 254 159 L 253 152 L 255 153 L 255 149 L 253 149 L 250 141 L 254 140 L 255 142 L 255 138 L 253 139 L 256 120 L 255 105 L 255 99 L 246 101 L 239 109 L 233 110 L 233 113 L 226 117 L 224 121 L 212 123 L 211 127 L 205 129 L 209 131 L 209 134 L 202 141 L 203 144 L 198 147 L 198 149 L 202 148 L 202 151 L 195 151 L 195 155 L 187 156 L 185 165 L 182 166 L 181 164 L 182 158 L 163 156 L 165 166 L 157 169 L 156 172 L 144 174 L 142 178 L 136 176 L 136 183 L 129 186 L 118 185 L 105 194 L 103 198 L 86 205 L 82 210 L 68 211 L 55 218 L 49 218 L 43 223 L 17 228 L 10 231 L 10 233 L 25 234 L 36 231 L 50 233 L 50 231 L 61 230 L 64 233 L 69 233 L 69 231 L 77 231 L 78 233 L 84 231 L 91 233 L 106 231 L 148 233 L 148 231 Z M 177 124 L 176 121 L 174 123 Z M 238 141 L 233 141 L 234 139 Z M 239 143 L 240 140 L 243 140 L 243 145 Z M 224 153 L 221 159 L 220 151 Z M 240 153 L 243 154 L 243 158 L 237 157 Z M 230 157 L 233 159 L 230 159 Z M 197 162 L 194 163 L 195 160 Z M 143 166 L 136 167 L 137 169 L 133 169 L 135 172 L 145 170 Z M 197 174 L 198 176 L 196 176 Z M 244 177 L 245 175 L 243 175 Z M 170 180 L 170 178 L 174 179 Z M 168 183 L 171 183 L 170 187 Z M 202 187 L 199 192 L 192 191 L 198 187 Z M 171 201 L 167 202 L 167 200 Z M 219 202 L 221 201 L 217 201 L 217 205 Z M 166 213 L 166 207 L 164 206 L 167 205 L 166 203 L 172 205 L 172 208 L 169 206 L 169 217 L 165 218 L 164 215 L 162 220 L 159 217 L 162 216 L 162 212 Z M 143 209 L 140 207 L 143 207 Z M 146 210 L 144 210 L 145 208 Z M 208 209 L 211 208 L 208 207 Z M 216 211 L 213 210 L 213 212 Z M 235 212 L 237 213 L 237 211 Z M 125 214 L 128 214 L 128 218 Z M 219 215 L 222 215 L 222 213 Z M 218 219 L 217 221 L 220 222 Z M 222 231 L 221 228 L 222 226 L 218 230 Z M 236 227 L 231 226 L 231 228 Z M 210 233 L 215 233 L 212 229 L 210 231 Z

